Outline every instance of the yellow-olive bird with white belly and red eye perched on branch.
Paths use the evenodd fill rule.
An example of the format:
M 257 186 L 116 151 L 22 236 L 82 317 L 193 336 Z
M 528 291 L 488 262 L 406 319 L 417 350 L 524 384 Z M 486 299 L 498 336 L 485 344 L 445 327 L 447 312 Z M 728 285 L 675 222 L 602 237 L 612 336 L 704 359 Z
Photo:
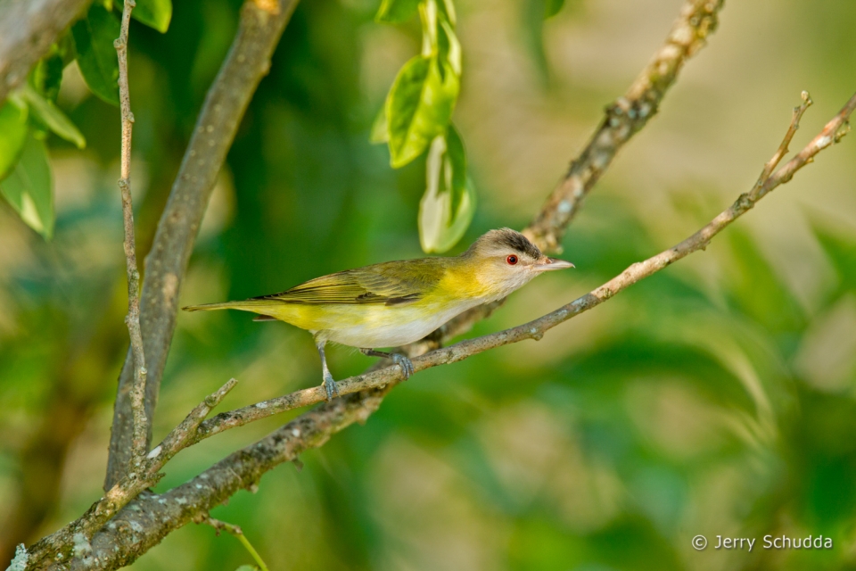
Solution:
M 280 294 L 182 309 L 251 311 L 259 314 L 256 321 L 280 320 L 306 329 L 315 338 L 321 385 L 331 401 L 339 389 L 327 367 L 326 343 L 390 359 L 408 378 L 414 367 L 407 356 L 378 348 L 418 341 L 465 310 L 502 299 L 545 271 L 573 267 L 570 261 L 547 257 L 520 232 L 499 228 L 458 256 L 385 261 L 316 277 Z

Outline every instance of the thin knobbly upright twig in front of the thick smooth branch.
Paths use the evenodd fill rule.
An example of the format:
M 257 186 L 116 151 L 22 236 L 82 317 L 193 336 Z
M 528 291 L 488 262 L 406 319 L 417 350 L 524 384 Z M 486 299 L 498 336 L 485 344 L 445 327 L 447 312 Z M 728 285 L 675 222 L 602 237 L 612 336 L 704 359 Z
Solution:
M 125 261 L 128 269 L 128 335 L 131 338 L 131 354 L 134 359 L 134 385 L 131 387 L 131 410 L 133 414 L 132 459 L 143 456 L 148 434 L 145 416 L 145 355 L 143 333 L 140 330 L 140 271 L 136 266 L 136 242 L 134 239 L 134 208 L 131 203 L 131 134 L 134 128 L 134 113 L 131 112 L 131 96 L 128 93 L 128 26 L 134 0 L 125 0 L 122 9 L 122 27 L 119 39 L 113 42 L 119 56 L 119 107 L 122 114 L 122 158 L 119 189 L 122 192 L 122 217 L 125 219 Z

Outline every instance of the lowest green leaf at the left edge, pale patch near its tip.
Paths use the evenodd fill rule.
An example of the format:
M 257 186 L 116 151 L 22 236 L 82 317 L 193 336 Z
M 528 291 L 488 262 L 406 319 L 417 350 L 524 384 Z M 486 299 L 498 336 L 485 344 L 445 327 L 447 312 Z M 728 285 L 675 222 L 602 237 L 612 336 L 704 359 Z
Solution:
M 21 160 L 0 183 L 0 194 L 46 240 L 53 236 L 53 178 L 44 141 L 26 137 Z

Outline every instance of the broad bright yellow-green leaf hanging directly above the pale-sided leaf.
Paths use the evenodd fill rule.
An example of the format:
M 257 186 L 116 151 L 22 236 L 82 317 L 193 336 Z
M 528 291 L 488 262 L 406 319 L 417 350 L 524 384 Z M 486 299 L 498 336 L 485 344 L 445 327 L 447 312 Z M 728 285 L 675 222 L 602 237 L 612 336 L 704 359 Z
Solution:
M 417 55 L 405 63 L 386 98 L 394 169 L 413 161 L 446 130 L 459 89 L 460 79 L 449 62 Z

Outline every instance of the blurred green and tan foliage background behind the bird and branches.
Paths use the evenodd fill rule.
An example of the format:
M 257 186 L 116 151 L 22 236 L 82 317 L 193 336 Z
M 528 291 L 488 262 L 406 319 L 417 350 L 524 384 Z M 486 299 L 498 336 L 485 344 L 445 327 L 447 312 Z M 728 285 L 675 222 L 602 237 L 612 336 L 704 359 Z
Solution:
M 389 152 L 371 145 L 369 134 L 422 30 L 415 21 L 376 23 L 378 4 L 323 0 L 294 13 L 229 153 L 183 302 L 267 294 L 420 255 L 425 159 L 391 170 Z M 488 228 L 522 227 L 537 211 L 563 161 L 597 124 L 599 105 L 644 65 L 675 9 L 651 0 L 625 21 L 626 6 L 574 4 L 544 24 L 542 62 L 532 56 L 531 21 L 516 3 L 458 6 L 469 75 L 454 120 L 481 199 L 457 250 Z M 722 210 L 753 183 L 802 87 L 819 102 L 804 131 L 835 112 L 854 85 L 856 38 L 848 30 L 856 9 L 787 6 L 728 6 L 661 116 L 617 159 L 574 222 L 563 257 L 576 273 L 527 286 L 472 335 L 555 309 Z M 235 0 L 176 3 L 166 34 L 132 24 L 141 253 L 239 8 Z M 647 27 L 650 38 L 627 36 Z M 490 30 L 505 31 L 498 38 Z M 597 58 L 580 55 L 587 53 L 580 44 L 566 43 L 578 37 L 621 73 L 608 75 Z M 539 83 L 542 64 L 551 66 L 549 91 Z M 86 150 L 46 135 L 56 184 L 53 241 L 0 209 L 6 550 L 77 517 L 101 495 L 111 400 L 127 348 L 119 113 L 88 95 L 77 70 L 66 70 L 56 105 Z M 856 151 L 848 139 L 707 252 L 539 343 L 416 375 L 365 426 L 305 454 L 301 471 L 277 468 L 258 493 L 240 492 L 212 516 L 240 525 L 271 569 L 852 568 L 856 205 L 848 196 Z M 549 161 L 539 162 L 544 156 Z M 709 164 L 717 168 L 705 170 Z M 793 268 L 799 271 L 788 273 Z M 371 362 L 331 353 L 337 378 Z M 237 313 L 182 315 L 155 438 L 228 377 L 241 380 L 224 404 L 231 408 L 317 384 L 317 373 L 311 338 L 296 329 Z M 159 489 L 296 414 L 183 452 Z M 706 550 L 692 549 L 696 534 L 707 536 Z M 766 534 L 822 534 L 835 547 L 763 550 Z M 717 535 L 755 537 L 756 547 L 715 550 Z M 133 567 L 248 563 L 233 538 L 191 525 Z

